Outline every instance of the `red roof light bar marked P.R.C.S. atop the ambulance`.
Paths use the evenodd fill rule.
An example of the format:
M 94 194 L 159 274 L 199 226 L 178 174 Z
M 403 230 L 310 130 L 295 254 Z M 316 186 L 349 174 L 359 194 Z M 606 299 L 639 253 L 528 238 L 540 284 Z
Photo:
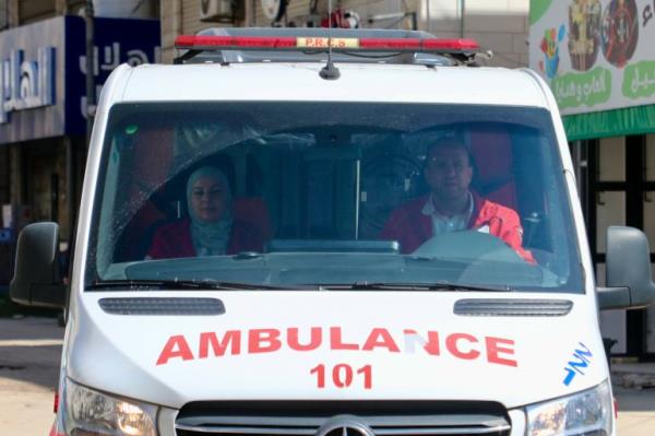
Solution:
M 302 50 L 326 51 L 329 39 L 325 37 L 270 37 L 270 36 L 191 36 L 181 35 L 175 39 L 175 47 L 189 50 Z M 332 50 L 349 51 L 403 51 L 465 54 L 475 52 L 480 46 L 473 39 L 439 38 L 332 38 Z

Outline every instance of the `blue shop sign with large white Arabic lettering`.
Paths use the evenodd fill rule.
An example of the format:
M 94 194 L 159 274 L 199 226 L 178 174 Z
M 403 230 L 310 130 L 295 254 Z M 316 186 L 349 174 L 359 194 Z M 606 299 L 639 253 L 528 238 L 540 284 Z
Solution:
M 157 20 L 95 19 L 96 97 L 120 63 L 159 60 Z M 0 32 L 0 144 L 84 135 L 85 23 L 59 16 Z

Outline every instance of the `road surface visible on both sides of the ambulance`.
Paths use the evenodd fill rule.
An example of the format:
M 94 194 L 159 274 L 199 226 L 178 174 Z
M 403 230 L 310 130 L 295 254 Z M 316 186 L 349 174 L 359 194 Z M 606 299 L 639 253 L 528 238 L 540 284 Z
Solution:
M 63 329 L 51 318 L 0 318 L 0 435 L 46 436 Z M 655 389 L 615 389 L 619 436 L 655 435 Z

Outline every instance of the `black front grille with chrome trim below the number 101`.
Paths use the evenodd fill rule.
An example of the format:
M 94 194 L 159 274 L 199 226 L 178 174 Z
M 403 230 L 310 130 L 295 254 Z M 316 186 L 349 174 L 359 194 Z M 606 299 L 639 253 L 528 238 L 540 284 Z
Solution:
M 510 419 L 492 402 L 195 402 L 176 420 L 177 436 L 508 436 Z

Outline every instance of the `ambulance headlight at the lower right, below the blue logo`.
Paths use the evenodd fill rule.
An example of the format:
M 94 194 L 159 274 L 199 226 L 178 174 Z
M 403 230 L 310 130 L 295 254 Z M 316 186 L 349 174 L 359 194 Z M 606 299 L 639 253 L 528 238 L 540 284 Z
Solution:
M 606 380 L 594 389 L 528 405 L 527 436 L 609 436 L 612 400 Z

